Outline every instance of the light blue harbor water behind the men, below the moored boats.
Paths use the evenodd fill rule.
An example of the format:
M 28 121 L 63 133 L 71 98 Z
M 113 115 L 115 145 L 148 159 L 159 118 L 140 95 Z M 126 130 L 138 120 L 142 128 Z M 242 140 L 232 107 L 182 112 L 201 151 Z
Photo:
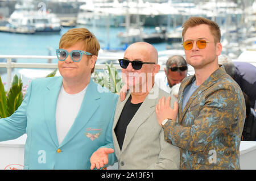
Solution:
M 77 26 L 88 28 L 100 42 L 101 48 L 121 49 L 124 47 L 117 37 L 119 32 L 125 32 L 124 27 L 112 28 L 92 26 Z M 59 48 L 61 35 L 70 28 L 63 27 L 60 32 L 39 32 L 31 35 L 0 32 L 0 54 L 4 55 L 55 55 L 55 49 Z M 109 31 L 109 33 L 108 33 Z M 154 27 L 144 28 L 144 32 L 153 32 Z M 167 43 L 153 44 L 157 50 L 165 50 Z M 19 60 L 20 61 L 20 60 Z M 30 60 L 28 60 L 30 61 Z M 26 62 L 26 60 L 22 60 Z

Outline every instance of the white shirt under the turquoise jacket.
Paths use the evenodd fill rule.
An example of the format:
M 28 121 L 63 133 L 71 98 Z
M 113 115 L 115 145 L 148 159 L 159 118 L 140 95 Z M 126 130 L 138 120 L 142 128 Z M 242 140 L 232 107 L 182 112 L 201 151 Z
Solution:
M 59 144 L 64 140 L 79 113 L 86 89 L 87 86 L 77 94 L 68 94 L 61 86 L 56 106 L 56 131 Z

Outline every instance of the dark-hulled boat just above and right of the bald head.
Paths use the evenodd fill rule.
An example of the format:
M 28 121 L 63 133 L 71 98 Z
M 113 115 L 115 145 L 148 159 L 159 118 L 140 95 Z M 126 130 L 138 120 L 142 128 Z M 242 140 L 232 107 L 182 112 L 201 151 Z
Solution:
M 166 28 L 155 27 L 155 32 L 143 33 L 142 40 L 147 43 L 162 43 L 166 41 Z

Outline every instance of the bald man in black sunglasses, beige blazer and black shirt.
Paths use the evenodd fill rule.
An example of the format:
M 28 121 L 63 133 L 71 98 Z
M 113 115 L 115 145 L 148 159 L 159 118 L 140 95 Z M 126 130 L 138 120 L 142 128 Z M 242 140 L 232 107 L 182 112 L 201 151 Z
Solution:
M 151 44 L 134 43 L 119 63 L 129 92 L 124 101 L 118 100 L 112 129 L 118 169 L 179 169 L 179 148 L 164 141 L 156 121 L 156 104 L 170 96 L 154 83 L 160 69 L 158 52 Z M 175 101 L 171 98 L 173 108 L 177 108 Z M 94 159 L 97 169 L 104 166 L 106 155 Z

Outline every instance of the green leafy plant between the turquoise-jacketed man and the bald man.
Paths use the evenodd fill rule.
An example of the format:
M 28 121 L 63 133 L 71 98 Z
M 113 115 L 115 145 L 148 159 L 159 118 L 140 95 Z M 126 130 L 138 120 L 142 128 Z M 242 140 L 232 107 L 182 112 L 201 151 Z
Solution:
M 118 93 L 123 86 L 122 78 L 118 76 L 118 71 L 114 68 L 113 62 L 110 65 L 106 62 L 106 67 L 107 69 L 104 72 L 98 73 L 95 71 L 92 76 L 93 80 L 111 92 Z

